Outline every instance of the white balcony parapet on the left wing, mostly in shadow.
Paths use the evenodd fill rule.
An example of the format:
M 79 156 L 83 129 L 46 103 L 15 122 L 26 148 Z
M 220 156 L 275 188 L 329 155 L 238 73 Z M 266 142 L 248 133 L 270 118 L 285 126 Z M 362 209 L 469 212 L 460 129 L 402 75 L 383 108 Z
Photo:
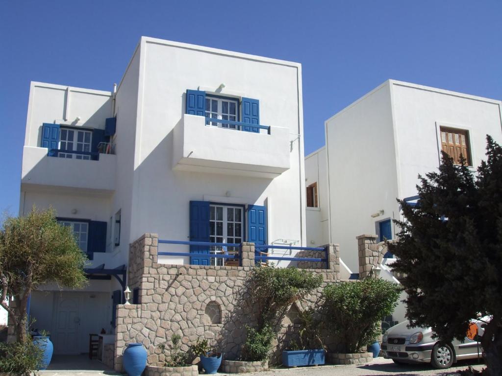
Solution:
M 25 146 L 21 190 L 50 188 L 57 192 L 88 192 L 109 195 L 115 190 L 116 155 L 99 154 L 99 160 L 59 158 L 47 148 Z

